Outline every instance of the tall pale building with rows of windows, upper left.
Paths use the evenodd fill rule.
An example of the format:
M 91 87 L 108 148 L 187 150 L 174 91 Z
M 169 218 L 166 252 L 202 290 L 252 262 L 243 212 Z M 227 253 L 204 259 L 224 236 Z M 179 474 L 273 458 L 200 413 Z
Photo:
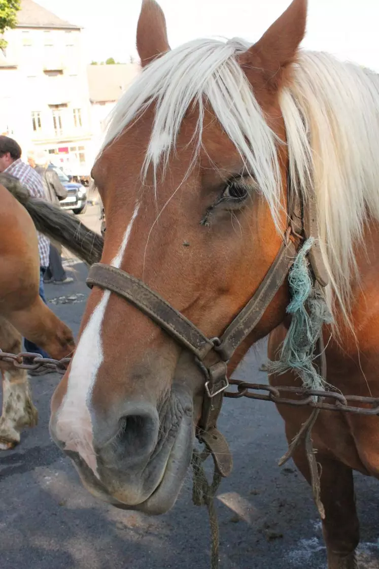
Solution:
M 80 27 L 32 0 L 0 50 L 0 133 L 26 154 L 43 149 L 73 175 L 88 175 L 94 158 L 86 65 Z

